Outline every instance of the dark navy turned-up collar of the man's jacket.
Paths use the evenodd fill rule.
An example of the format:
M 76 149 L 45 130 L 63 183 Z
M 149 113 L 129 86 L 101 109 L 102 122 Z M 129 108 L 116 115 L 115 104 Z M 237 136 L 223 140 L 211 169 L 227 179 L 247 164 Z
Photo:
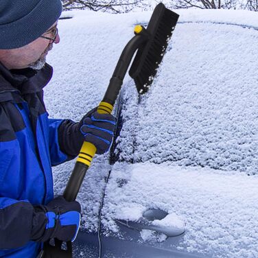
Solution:
M 41 91 L 51 79 L 52 74 L 53 69 L 48 64 L 45 64 L 39 71 L 30 68 L 8 70 L 0 62 L 0 102 L 10 100 L 11 93 L 15 91 L 21 95 Z

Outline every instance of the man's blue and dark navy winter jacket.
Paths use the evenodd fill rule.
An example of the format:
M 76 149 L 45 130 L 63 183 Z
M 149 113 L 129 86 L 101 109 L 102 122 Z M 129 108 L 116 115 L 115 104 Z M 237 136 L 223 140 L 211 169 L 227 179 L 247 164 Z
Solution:
M 36 257 L 33 205 L 54 198 L 51 166 L 76 156 L 83 141 L 64 143 L 74 122 L 48 118 L 43 87 L 51 75 L 49 65 L 11 72 L 0 63 L 0 257 Z

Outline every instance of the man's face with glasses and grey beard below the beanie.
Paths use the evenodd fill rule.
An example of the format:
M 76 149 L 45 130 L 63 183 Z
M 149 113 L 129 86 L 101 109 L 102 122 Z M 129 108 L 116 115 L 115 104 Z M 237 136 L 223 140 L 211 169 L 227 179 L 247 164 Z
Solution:
M 57 22 L 42 36 L 54 38 L 56 26 Z M 47 38 L 39 37 L 32 43 L 18 49 L 0 49 L 0 61 L 8 69 L 23 69 L 27 67 L 41 69 L 45 65 L 48 51 L 53 48 L 54 43 L 57 44 L 60 42 L 58 34 L 54 42 Z

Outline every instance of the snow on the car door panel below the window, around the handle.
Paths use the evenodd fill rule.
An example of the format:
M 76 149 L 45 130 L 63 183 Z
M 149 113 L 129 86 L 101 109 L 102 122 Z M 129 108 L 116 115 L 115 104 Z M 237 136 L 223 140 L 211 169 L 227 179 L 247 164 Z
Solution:
M 119 187 L 117 182 L 125 171 L 128 183 Z M 156 224 L 172 225 L 173 217 L 178 227 L 185 223 L 186 233 L 178 250 L 214 257 L 232 257 L 232 253 L 234 257 L 257 257 L 257 184 L 257 176 L 236 172 L 117 163 L 106 189 L 103 213 L 107 220 L 119 218 L 120 210 L 134 203 L 141 203 L 145 210 L 163 209 L 168 218 Z M 251 252 L 255 256 L 248 256 Z

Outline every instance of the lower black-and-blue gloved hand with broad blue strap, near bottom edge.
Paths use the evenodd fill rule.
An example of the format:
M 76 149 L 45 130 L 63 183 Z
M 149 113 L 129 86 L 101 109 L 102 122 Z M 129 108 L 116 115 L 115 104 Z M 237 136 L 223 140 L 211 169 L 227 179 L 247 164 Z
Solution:
M 67 202 L 62 196 L 47 205 L 34 206 L 31 239 L 46 242 L 57 238 L 63 242 L 74 241 L 80 226 L 79 202 Z

